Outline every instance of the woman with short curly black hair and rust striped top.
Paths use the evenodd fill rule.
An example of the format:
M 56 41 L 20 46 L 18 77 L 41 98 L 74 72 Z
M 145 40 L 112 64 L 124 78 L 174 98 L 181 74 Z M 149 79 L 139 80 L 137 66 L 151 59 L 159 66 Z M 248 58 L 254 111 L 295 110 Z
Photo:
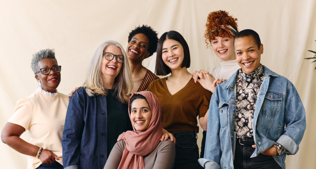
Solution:
M 150 26 L 138 26 L 130 32 L 126 55 L 134 81 L 132 93 L 146 90 L 152 81 L 159 79 L 146 68 L 147 66 L 142 65 L 145 58 L 152 56 L 157 51 L 157 43 L 157 33 Z

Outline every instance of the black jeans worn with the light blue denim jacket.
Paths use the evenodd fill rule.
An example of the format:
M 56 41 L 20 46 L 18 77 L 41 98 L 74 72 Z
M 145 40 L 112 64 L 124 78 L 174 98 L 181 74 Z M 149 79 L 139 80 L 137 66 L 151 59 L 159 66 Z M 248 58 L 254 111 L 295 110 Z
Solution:
M 250 158 L 254 151 L 252 145 L 240 145 L 236 140 L 234 169 L 282 169 L 272 156 L 260 153 L 257 157 Z

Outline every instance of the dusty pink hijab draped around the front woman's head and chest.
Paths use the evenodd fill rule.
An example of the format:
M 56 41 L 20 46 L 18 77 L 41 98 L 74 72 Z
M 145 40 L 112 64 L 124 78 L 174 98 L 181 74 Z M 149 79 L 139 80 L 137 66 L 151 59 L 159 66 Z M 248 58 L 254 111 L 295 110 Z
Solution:
M 137 92 L 132 94 L 130 101 L 135 94 L 146 97 L 152 115 L 146 130 L 136 131 L 133 126 L 133 131 L 125 132 L 126 146 L 118 169 L 144 169 L 143 156 L 154 151 L 162 136 L 161 105 L 156 95 L 149 91 Z M 128 111 L 131 118 L 130 107 Z

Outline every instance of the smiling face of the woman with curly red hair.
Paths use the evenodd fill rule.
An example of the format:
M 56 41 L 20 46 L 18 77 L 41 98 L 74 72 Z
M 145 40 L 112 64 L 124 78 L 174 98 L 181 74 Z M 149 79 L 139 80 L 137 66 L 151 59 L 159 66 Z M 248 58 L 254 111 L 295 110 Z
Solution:
M 221 62 L 235 60 L 234 39 L 230 37 L 219 37 L 211 40 L 214 53 L 221 59 Z

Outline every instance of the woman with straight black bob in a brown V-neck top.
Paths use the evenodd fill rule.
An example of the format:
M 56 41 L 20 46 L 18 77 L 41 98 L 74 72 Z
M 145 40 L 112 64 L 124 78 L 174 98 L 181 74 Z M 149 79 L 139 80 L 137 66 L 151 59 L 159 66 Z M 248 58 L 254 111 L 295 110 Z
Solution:
M 176 31 L 162 34 L 157 47 L 156 74 L 171 75 L 153 81 L 148 91 L 161 103 L 161 140 L 176 139 L 174 168 L 199 168 L 197 116 L 204 117 L 212 94 L 194 82 L 189 67 L 190 51 L 183 36 Z

